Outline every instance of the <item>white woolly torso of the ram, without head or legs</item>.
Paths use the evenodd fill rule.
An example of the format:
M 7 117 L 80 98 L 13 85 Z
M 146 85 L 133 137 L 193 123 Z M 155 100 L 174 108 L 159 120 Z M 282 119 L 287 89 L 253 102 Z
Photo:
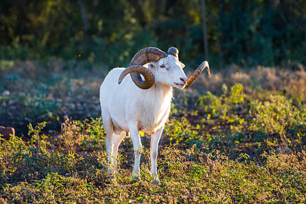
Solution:
M 112 69 L 100 87 L 102 115 L 111 118 L 114 131 L 128 132 L 128 123 L 136 123 L 139 131 L 154 133 L 168 118 L 172 87 L 155 83 L 149 89 L 140 89 L 129 74 L 118 84 L 123 69 Z

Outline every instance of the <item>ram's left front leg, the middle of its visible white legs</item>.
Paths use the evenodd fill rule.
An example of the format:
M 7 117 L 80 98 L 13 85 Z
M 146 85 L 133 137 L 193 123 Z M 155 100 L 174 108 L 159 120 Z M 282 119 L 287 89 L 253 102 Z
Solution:
M 128 125 L 129 126 L 129 132 L 130 137 L 133 142 L 134 147 L 134 154 L 135 154 L 135 160 L 134 160 L 134 167 L 132 171 L 132 180 L 140 179 L 140 155 L 141 155 L 141 141 L 140 141 L 140 135 L 138 132 L 137 124 L 136 125 Z

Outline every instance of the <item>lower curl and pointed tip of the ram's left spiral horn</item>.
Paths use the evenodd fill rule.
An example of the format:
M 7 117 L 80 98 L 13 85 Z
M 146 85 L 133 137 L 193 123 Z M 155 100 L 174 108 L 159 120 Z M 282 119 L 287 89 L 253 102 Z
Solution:
M 150 87 L 152 87 L 152 85 L 155 83 L 155 77 L 153 75 L 153 73 L 146 67 L 144 66 L 140 66 L 140 65 L 131 65 L 127 68 L 125 68 L 118 79 L 118 84 L 121 83 L 121 81 L 123 80 L 124 76 L 126 76 L 129 73 L 136 73 L 136 77 L 133 78 L 132 80 L 134 81 L 134 83 L 136 84 L 136 86 L 138 86 L 139 88 L 142 89 L 148 89 Z M 143 75 L 144 80 L 142 80 L 140 73 Z

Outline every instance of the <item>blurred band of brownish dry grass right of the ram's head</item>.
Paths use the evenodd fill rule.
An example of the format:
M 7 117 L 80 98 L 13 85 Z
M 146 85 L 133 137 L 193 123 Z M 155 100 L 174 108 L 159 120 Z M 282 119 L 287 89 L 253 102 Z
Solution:
M 192 87 L 198 91 L 201 91 L 198 88 L 201 87 L 203 90 L 218 93 L 223 84 L 232 86 L 235 83 L 241 83 L 246 93 L 281 91 L 294 100 L 306 100 L 306 71 L 301 64 L 296 70 L 290 67 L 263 66 L 243 69 L 232 65 L 220 72 L 212 72 L 209 77 L 206 73 L 201 74 Z

